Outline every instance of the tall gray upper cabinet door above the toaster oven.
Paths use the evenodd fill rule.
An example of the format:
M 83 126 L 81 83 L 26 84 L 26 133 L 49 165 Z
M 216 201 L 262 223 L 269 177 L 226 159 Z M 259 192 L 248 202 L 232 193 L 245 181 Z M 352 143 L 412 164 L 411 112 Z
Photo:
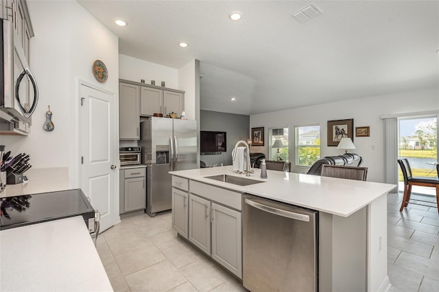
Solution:
M 119 138 L 139 140 L 139 86 L 119 83 Z

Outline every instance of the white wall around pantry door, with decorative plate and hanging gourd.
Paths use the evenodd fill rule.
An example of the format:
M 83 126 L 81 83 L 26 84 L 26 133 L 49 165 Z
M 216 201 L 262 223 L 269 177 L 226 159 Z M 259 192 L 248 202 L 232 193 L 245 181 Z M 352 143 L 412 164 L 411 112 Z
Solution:
M 13 154 L 30 154 L 34 168 L 69 167 L 72 186 L 78 166 L 78 79 L 116 94 L 118 101 L 118 39 L 76 1 L 27 1 L 35 36 L 30 40 L 30 66 L 40 100 L 32 115 L 29 136 L 1 136 Z M 95 60 L 109 71 L 105 83 L 91 71 Z M 43 130 L 50 106 L 55 130 Z M 115 117 L 117 118 L 117 117 Z

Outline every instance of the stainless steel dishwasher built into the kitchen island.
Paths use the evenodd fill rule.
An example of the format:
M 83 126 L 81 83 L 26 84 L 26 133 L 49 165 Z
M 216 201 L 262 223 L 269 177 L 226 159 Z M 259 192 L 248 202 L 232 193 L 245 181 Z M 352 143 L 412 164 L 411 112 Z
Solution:
M 257 291 L 318 291 L 318 211 L 243 196 L 243 284 Z

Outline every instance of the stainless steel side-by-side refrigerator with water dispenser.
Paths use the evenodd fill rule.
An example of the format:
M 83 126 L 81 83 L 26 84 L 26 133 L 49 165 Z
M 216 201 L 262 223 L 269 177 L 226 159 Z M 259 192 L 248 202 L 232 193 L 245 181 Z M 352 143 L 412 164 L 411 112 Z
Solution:
M 171 210 L 171 175 L 168 171 L 197 168 L 196 121 L 150 117 L 141 122 L 142 163 L 146 168 L 146 210 Z

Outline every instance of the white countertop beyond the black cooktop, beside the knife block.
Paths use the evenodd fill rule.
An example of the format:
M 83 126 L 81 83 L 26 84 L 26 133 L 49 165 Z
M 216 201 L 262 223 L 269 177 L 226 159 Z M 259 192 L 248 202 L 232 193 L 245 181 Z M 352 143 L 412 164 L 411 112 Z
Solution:
M 32 195 L 36 193 L 68 190 L 69 168 L 54 167 L 47 169 L 29 169 L 25 173 L 27 182 L 22 184 L 8 184 L 0 197 L 13 195 Z

